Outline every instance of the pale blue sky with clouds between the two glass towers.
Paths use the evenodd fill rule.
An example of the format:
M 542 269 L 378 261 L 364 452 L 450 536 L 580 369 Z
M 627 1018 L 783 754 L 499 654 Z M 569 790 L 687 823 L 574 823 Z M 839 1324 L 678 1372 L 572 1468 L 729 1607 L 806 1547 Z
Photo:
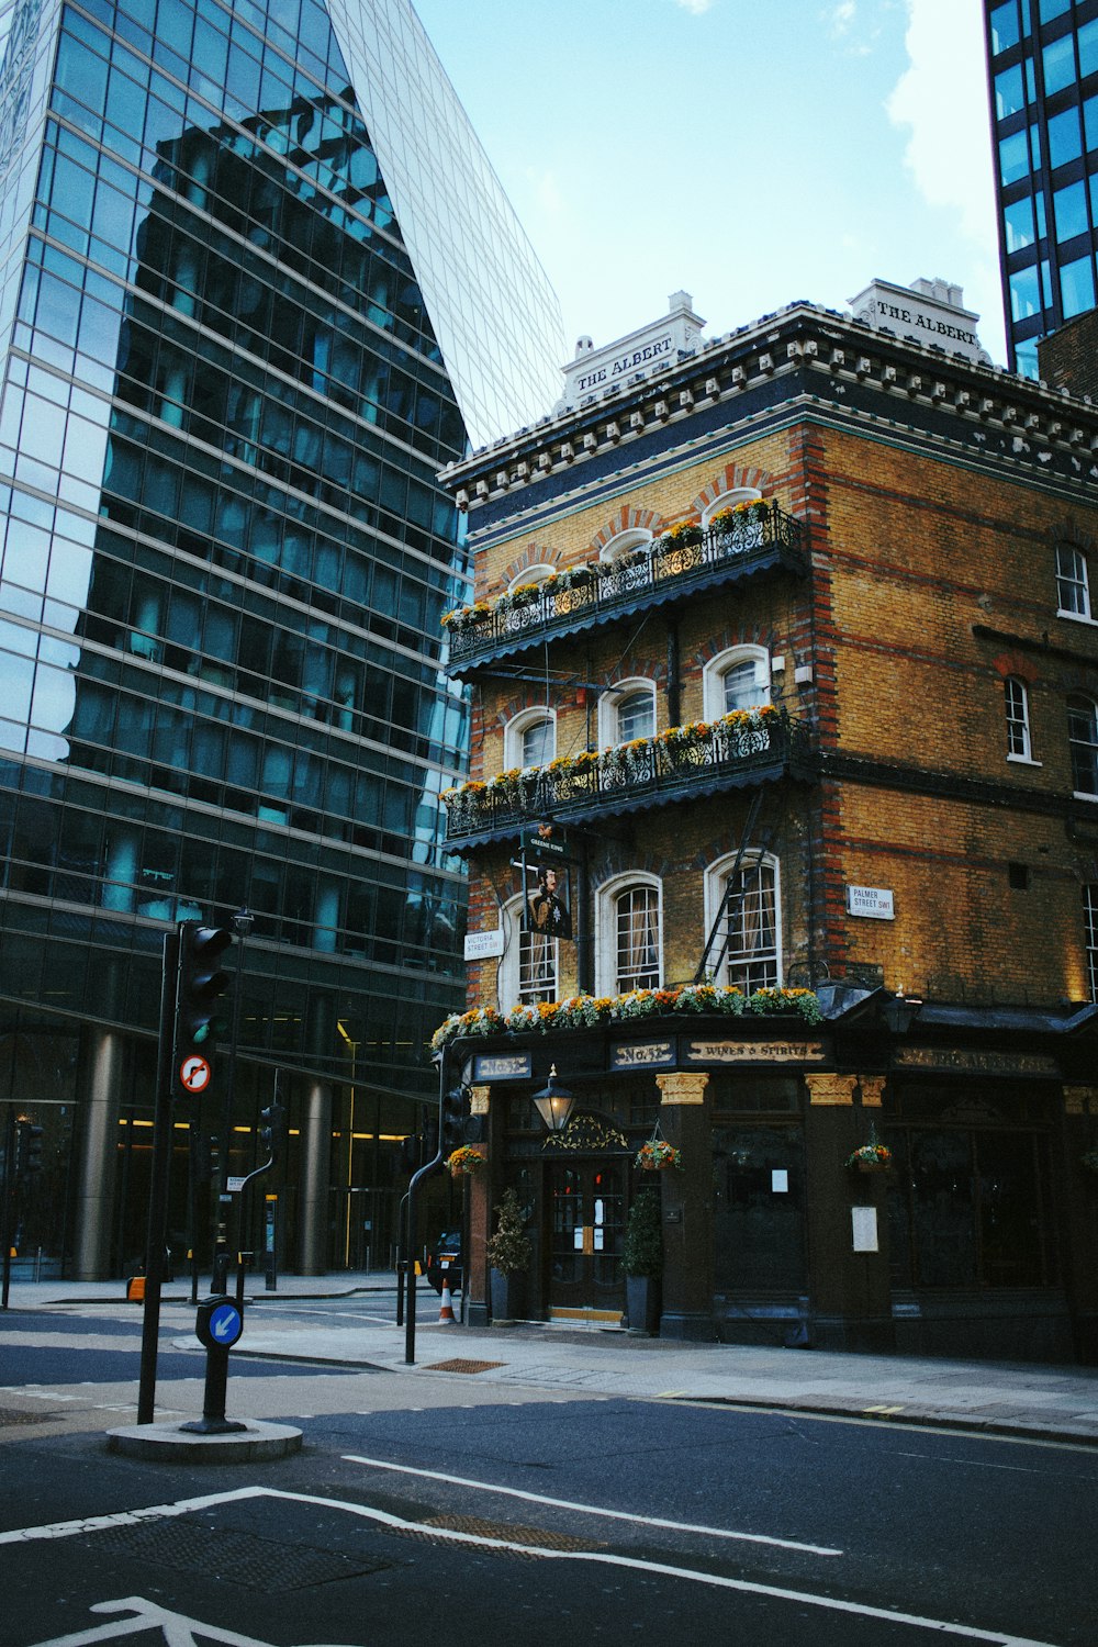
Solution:
M 940 275 L 1006 359 L 979 0 L 413 3 L 568 354 Z

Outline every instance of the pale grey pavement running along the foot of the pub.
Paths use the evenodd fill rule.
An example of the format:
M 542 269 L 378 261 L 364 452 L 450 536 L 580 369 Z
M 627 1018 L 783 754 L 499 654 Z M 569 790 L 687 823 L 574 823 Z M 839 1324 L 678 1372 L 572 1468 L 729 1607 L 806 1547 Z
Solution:
M 273 1319 L 265 1304 L 295 1299 L 357 1301 L 377 1293 L 377 1311 L 362 1324 Z M 384 1296 L 380 1296 L 384 1295 Z M 189 1304 L 189 1283 L 165 1286 L 163 1304 Z M 435 1295 L 418 1290 L 420 1301 Z M 395 1323 L 393 1276 L 280 1276 L 268 1291 L 262 1276 L 245 1286 L 245 1331 L 234 1355 L 270 1357 L 339 1367 L 369 1367 L 405 1377 L 464 1374 L 477 1383 L 561 1390 L 570 1395 L 624 1395 L 650 1400 L 714 1402 L 731 1407 L 805 1411 L 892 1425 L 933 1425 L 988 1435 L 1098 1446 L 1098 1369 L 1031 1362 L 919 1359 L 838 1354 L 744 1344 L 683 1344 L 634 1337 L 619 1327 L 576 1323 L 519 1323 L 468 1327 L 459 1321 L 423 1321 L 408 1364 L 407 1329 Z M 123 1281 L 23 1281 L 10 1290 L 10 1309 L 94 1308 L 127 1303 Z M 459 1299 L 454 1303 L 459 1313 Z M 267 1319 L 265 1319 L 267 1316 Z M 0 1341 L 3 1332 L 0 1314 Z M 161 1323 L 168 1326 L 168 1323 Z M 179 1339 L 188 1347 L 194 1337 Z

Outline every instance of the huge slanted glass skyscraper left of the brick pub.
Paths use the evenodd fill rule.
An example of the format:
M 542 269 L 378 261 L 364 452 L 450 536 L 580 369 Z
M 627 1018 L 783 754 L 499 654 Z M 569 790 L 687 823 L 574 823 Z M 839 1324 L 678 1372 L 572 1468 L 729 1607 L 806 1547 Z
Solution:
M 283 1260 L 387 1257 L 464 988 L 435 476 L 551 407 L 558 305 L 408 0 L 18 0 L 0 43 L 18 1253 L 140 1255 L 163 934 L 245 907 L 229 1171 L 281 1071 Z M 176 1127 L 174 1245 L 212 1120 Z

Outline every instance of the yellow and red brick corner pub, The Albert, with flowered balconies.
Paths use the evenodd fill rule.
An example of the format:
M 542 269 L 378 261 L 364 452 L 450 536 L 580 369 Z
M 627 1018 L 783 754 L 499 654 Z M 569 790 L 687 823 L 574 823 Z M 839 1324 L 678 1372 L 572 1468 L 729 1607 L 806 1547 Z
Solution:
M 1093 1360 L 1098 408 L 807 303 L 700 328 L 584 339 L 443 478 L 469 1314 L 514 1186 L 530 1316 L 619 1319 L 655 1183 L 665 1336 Z

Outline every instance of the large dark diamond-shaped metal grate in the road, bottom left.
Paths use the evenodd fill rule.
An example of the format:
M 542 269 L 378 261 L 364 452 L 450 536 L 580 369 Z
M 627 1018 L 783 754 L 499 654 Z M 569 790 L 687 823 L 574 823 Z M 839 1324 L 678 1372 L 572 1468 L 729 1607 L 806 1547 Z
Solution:
M 89 1550 L 115 1550 L 143 1565 L 166 1566 L 178 1573 L 201 1571 L 206 1578 L 230 1579 L 249 1589 L 281 1593 L 331 1584 L 342 1578 L 382 1573 L 395 1561 L 347 1556 L 334 1550 L 313 1550 L 191 1522 L 188 1517 L 148 1522 L 142 1527 L 107 1527 L 89 1533 Z

